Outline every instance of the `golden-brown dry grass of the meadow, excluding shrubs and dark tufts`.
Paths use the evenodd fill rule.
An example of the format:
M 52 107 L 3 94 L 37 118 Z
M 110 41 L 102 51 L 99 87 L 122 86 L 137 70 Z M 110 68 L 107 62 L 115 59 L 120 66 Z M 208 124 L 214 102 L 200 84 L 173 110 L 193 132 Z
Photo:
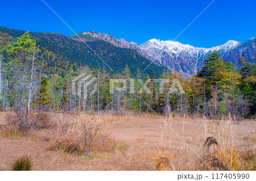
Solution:
M 5 114 L 0 112 L 0 128 L 5 127 Z M 161 116 L 167 126 L 156 115 L 102 115 L 96 119 L 82 113 L 51 113 L 51 117 L 56 123 L 53 128 L 34 131 L 30 136 L 0 137 L 0 170 L 9 170 L 11 161 L 23 155 L 34 161 L 32 170 L 44 170 L 61 152 L 61 148 L 51 149 L 56 140 L 68 137 L 65 141 L 69 142 L 85 121 L 94 119 L 94 124 L 100 124 L 101 134 L 108 136 L 96 142 L 92 156 L 64 151 L 47 170 L 156 170 L 154 158 L 160 155 L 161 159 L 162 149 L 168 158 L 175 158 L 164 170 L 202 170 L 201 159 L 191 149 L 203 158 L 203 145 L 209 136 L 218 142 L 210 148 L 211 153 L 229 148 L 255 153 L 255 121 L 251 120 L 233 124 L 230 120 Z

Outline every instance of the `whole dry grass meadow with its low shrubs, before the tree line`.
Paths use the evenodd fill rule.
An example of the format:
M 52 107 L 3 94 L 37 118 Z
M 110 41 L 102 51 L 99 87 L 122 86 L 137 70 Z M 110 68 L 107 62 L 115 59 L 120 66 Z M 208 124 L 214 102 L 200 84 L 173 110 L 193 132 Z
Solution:
M 51 127 L 24 136 L 6 131 L 7 114 L 0 112 L 0 170 L 24 156 L 31 170 L 255 170 L 255 120 L 51 113 Z

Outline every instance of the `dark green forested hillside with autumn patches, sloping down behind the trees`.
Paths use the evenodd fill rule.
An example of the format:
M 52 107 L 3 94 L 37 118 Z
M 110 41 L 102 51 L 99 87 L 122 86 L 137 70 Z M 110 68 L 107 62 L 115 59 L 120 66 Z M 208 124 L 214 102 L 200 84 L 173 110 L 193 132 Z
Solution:
M 9 59 L 3 50 L 7 43 L 15 41 L 16 37 L 23 35 L 24 31 L 12 30 L 0 27 L 0 52 L 3 52 L 5 60 Z M 121 72 L 125 65 L 129 65 L 131 74 L 135 75 L 137 69 L 142 73 L 142 77 L 155 72 L 156 76 L 160 76 L 166 68 L 151 63 L 150 60 L 142 57 L 135 50 L 127 48 L 119 48 L 107 43 L 106 41 L 97 40 L 88 42 L 90 48 L 94 50 L 104 62 L 83 42 L 75 41 L 67 36 L 59 33 L 31 33 L 31 39 L 36 40 L 36 46 L 40 49 L 38 56 L 41 61 L 48 64 L 47 74 L 56 73 L 64 77 L 68 73 L 68 69 L 73 67 L 74 70 L 81 66 L 88 65 L 91 68 L 106 68 L 111 73 Z M 111 70 L 110 68 L 113 70 Z M 146 69 L 145 71 L 143 71 Z

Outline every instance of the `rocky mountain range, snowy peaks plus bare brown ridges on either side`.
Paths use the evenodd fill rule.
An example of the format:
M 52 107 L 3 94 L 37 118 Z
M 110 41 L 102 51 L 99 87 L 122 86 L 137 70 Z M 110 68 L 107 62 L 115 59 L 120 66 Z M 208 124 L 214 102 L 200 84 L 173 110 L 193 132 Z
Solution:
M 109 33 L 84 32 L 80 33 L 82 39 L 86 41 L 104 40 L 115 45 L 116 47 L 129 48 L 137 50 L 145 58 L 155 62 L 157 65 L 166 66 L 170 70 L 180 72 L 184 77 L 191 77 L 204 64 L 204 59 L 209 53 L 216 50 L 221 54 L 225 61 L 231 61 L 234 65 L 240 61 L 242 56 L 247 61 L 253 62 L 256 54 L 256 39 L 240 43 L 238 41 L 229 40 L 223 45 L 212 48 L 198 48 L 188 44 L 181 44 L 177 41 L 161 41 L 151 39 L 138 46 L 137 43 L 127 42 L 124 39 L 117 39 Z M 72 37 L 73 38 L 73 35 Z M 77 38 L 73 38 L 80 41 Z

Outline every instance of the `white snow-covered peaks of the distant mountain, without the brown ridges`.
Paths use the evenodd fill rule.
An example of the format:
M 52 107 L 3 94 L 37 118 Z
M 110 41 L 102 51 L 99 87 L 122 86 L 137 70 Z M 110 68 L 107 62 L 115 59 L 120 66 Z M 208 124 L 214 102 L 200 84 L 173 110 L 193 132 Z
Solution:
M 197 48 L 177 41 L 151 39 L 139 45 L 139 48 L 152 57 L 152 61 L 159 62 L 170 70 L 176 70 L 183 75 L 190 76 L 201 68 L 204 58 L 213 50 L 217 50 L 224 56 L 239 45 L 238 41 L 229 40 L 221 46 Z

